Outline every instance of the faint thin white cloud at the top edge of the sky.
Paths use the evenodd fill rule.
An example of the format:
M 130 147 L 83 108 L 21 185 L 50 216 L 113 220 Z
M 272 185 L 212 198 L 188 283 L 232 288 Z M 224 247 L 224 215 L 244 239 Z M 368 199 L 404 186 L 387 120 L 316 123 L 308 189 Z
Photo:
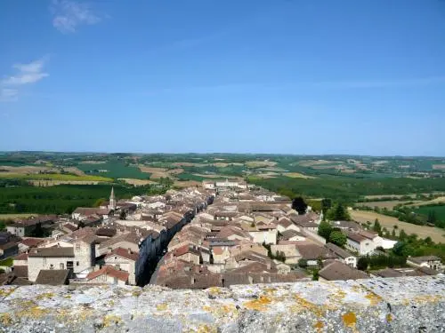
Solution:
M 53 26 L 64 34 L 73 33 L 78 26 L 99 23 L 101 18 L 94 14 L 88 4 L 69 0 L 53 0 Z

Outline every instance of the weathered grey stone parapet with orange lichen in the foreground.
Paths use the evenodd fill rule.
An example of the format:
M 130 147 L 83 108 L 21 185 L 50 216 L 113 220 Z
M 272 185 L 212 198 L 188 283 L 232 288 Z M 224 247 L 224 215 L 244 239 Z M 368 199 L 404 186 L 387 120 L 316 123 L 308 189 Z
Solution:
M 441 332 L 445 277 L 240 285 L 0 288 L 4 332 Z

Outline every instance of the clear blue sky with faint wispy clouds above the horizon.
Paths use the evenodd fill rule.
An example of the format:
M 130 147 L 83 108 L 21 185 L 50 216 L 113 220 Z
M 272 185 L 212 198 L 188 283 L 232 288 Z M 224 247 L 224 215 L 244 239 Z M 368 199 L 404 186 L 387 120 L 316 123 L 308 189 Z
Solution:
M 443 0 L 2 0 L 0 150 L 445 155 Z

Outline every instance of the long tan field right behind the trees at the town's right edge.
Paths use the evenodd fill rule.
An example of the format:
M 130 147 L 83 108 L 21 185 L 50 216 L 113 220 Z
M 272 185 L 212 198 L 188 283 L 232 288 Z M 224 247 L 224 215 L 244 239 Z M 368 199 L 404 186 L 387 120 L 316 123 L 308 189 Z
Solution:
M 399 234 L 400 230 L 403 229 L 407 234 L 417 234 L 420 238 L 430 236 L 433 242 L 445 242 L 445 236 L 443 236 L 445 230 L 440 228 L 432 226 L 416 226 L 411 223 L 401 222 L 397 218 L 367 210 L 352 210 L 351 217 L 353 220 L 360 223 L 366 223 L 367 221 L 374 223 L 376 218 L 378 218 L 380 224 L 386 227 L 390 232 L 392 231 L 393 226 L 398 226 L 396 234 Z

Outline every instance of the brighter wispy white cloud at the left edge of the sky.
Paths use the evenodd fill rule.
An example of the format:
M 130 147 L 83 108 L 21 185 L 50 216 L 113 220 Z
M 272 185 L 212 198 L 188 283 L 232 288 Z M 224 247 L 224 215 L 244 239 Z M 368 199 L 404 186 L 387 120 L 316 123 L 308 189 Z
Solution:
M 48 76 L 44 72 L 46 59 L 37 59 L 28 64 L 15 64 L 16 73 L 5 76 L 0 81 L 0 101 L 14 101 L 18 99 L 20 86 L 36 83 Z

